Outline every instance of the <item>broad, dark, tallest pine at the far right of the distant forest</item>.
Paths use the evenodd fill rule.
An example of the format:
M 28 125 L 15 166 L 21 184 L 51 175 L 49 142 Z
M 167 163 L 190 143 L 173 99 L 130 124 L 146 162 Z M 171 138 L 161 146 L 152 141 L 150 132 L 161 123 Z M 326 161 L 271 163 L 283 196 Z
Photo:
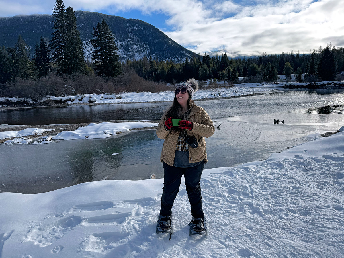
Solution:
M 320 81 L 333 80 L 336 77 L 336 74 L 336 61 L 334 60 L 330 47 L 325 47 L 319 60 L 318 78 Z

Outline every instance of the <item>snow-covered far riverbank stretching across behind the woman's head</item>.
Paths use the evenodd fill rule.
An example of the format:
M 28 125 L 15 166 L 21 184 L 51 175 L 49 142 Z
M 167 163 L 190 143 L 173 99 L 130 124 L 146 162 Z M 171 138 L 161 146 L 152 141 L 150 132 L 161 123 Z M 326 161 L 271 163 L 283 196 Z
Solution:
M 281 79 L 283 80 L 283 76 Z M 202 82 L 204 89 L 198 90 L 193 96 L 194 100 L 209 99 L 209 98 L 228 98 L 247 96 L 255 93 L 264 93 L 272 91 L 271 88 L 283 87 L 344 87 L 344 81 L 329 81 L 329 82 L 315 82 L 310 83 L 295 83 L 295 82 L 279 82 L 279 83 L 241 83 L 235 85 L 227 85 L 224 79 L 219 79 L 216 85 L 209 85 L 213 83 L 212 80 Z M 232 87 L 233 86 L 233 87 Z M 46 96 L 39 103 L 32 101 L 30 98 L 8 98 L 0 97 L 0 109 L 15 108 L 30 105 L 42 105 L 45 103 L 56 104 L 114 104 L 114 103 L 141 103 L 141 102 L 161 102 L 172 101 L 174 97 L 173 90 L 165 92 L 123 92 L 120 94 L 78 94 L 75 96 Z M 27 104 L 25 104 L 27 103 Z

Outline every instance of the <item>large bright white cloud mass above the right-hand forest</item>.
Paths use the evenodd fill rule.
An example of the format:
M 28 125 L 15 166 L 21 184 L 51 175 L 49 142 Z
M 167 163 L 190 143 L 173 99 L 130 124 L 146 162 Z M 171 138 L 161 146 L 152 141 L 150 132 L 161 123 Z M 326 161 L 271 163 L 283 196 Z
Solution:
M 307 53 L 330 41 L 343 46 L 344 6 L 339 0 L 286 0 L 235 8 L 233 17 L 181 25 L 181 29 L 166 34 L 201 54 L 218 49 L 229 55 L 259 55 L 263 51 L 274 54 L 292 49 Z

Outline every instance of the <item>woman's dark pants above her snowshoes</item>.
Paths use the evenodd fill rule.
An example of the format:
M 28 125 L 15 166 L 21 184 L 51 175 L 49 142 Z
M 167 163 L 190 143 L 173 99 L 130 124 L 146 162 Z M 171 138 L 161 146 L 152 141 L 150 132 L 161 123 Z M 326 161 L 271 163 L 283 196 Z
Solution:
M 164 187 L 161 196 L 161 215 L 171 215 L 174 199 L 179 192 L 180 181 L 184 174 L 187 197 L 191 204 L 191 215 L 194 218 L 203 218 L 202 195 L 201 195 L 201 175 L 204 168 L 204 161 L 190 168 L 178 168 L 163 162 Z

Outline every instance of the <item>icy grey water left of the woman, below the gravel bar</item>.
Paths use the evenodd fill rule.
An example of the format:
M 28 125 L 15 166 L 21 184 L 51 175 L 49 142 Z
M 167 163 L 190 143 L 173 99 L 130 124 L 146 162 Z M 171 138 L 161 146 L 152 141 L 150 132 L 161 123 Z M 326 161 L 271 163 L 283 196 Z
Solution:
M 161 173 L 160 141 L 155 130 L 144 130 L 107 139 L 1 145 L 0 192 L 32 194 L 104 179 L 149 179 Z

